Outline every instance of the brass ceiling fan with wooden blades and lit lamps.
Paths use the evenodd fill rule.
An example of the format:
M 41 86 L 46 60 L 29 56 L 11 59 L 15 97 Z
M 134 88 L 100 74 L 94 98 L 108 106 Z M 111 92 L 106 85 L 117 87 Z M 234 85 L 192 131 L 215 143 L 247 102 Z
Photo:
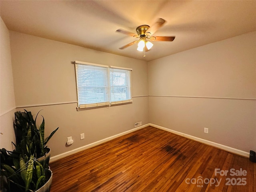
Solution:
M 140 38 L 134 42 L 131 42 L 125 46 L 120 47 L 119 49 L 124 49 L 128 46 L 138 43 L 138 51 L 143 51 L 143 57 L 146 57 L 146 51 L 152 48 L 153 44 L 150 41 L 173 41 L 175 36 L 152 36 L 166 21 L 162 18 L 158 18 L 158 20 L 150 27 L 148 25 L 141 25 L 136 28 L 136 32 L 132 33 L 123 29 L 116 30 L 117 32 L 133 36 L 134 38 Z

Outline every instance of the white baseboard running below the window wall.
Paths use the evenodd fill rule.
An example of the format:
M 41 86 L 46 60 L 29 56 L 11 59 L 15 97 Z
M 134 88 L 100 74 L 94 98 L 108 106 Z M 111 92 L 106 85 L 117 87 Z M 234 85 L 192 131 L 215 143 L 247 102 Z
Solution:
M 136 127 L 136 128 L 134 128 L 134 129 L 131 129 L 131 130 L 128 130 L 128 131 L 125 131 L 125 132 L 116 134 L 116 135 L 114 135 L 114 136 L 110 136 L 110 137 L 108 137 L 108 138 L 104 138 L 104 139 L 102 139 L 102 140 L 99 140 L 99 141 L 90 143 L 90 144 L 88 144 L 88 145 L 85 145 L 85 146 L 82 146 L 82 147 L 79 147 L 79 148 L 76 148 L 76 149 L 73 149 L 73 150 L 64 152 L 64 153 L 62 153 L 62 154 L 58 154 L 58 155 L 56 155 L 56 156 L 52 156 L 52 157 L 50 158 L 50 162 L 54 162 L 54 161 L 56 161 L 56 160 L 59 160 L 59 159 L 61 159 L 61 158 L 66 157 L 66 156 L 70 156 L 70 155 L 72 155 L 72 154 L 75 154 L 75 153 L 78 153 L 78 152 L 80 152 L 80 151 L 86 150 L 86 149 L 88 149 L 88 148 L 92 148 L 92 147 L 94 147 L 94 146 L 100 145 L 100 144 L 102 144 L 102 143 L 105 143 L 105 142 L 107 142 L 107 141 L 113 140 L 113 139 L 115 139 L 115 138 L 118 138 L 118 137 L 120 137 L 120 136 L 126 135 L 126 134 L 128 134 L 128 133 L 134 132 L 134 131 L 136 131 L 136 130 L 142 129 L 142 128 L 147 127 L 147 126 L 149 126 L 149 125 L 150 125 L 150 124 L 148 123 L 148 124 L 145 124 L 145 125 Z

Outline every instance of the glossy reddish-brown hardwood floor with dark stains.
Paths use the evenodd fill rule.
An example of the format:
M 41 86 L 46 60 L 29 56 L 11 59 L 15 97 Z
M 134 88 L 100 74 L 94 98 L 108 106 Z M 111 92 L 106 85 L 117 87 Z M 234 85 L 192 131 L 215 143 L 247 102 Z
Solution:
M 256 192 L 248 158 L 150 126 L 50 167 L 51 192 Z

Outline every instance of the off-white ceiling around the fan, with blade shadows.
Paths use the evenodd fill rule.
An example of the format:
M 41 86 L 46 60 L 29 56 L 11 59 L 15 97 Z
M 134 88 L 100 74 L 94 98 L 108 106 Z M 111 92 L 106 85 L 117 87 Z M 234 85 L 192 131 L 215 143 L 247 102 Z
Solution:
M 146 61 L 256 30 L 254 0 L 1 0 L 0 15 L 9 30 Z M 118 49 L 137 39 L 117 29 L 157 18 L 166 23 L 154 35 L 173 42 L 153 42 L 145 58 L 136 44 Z

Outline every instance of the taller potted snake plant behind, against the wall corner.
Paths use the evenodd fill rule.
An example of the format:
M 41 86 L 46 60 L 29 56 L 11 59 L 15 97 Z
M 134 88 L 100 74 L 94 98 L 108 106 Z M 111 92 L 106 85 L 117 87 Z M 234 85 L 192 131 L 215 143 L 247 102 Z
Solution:
M 39 111 L 40 112 L 40 111 Z M 34 119 L 31 112 L 24 110 L 24 112 L 15 112 L 14 132 L 16 138 L 16 152 L 26 154 L 28 157 L 33 155 L 37 160 L 43 164 L 44 168 L 48 167 L 50 160 L 50 148 L 46 146 L 50 138 L 58 130 L 56 128 L 50 136 L 44 137 L 44 117 L 39 128 L 36 126 L 36 119 Z

